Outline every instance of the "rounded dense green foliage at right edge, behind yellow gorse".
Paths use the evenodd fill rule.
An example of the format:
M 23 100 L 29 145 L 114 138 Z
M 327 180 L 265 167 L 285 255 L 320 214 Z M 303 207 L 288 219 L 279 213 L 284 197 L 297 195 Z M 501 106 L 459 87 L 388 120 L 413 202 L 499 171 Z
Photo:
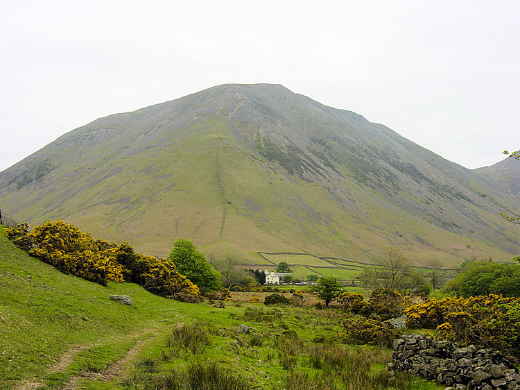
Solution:
M 472 262 L 448 283 L 446 291 L 465 297 L 488 294 L 520 297 L 520 264 Z

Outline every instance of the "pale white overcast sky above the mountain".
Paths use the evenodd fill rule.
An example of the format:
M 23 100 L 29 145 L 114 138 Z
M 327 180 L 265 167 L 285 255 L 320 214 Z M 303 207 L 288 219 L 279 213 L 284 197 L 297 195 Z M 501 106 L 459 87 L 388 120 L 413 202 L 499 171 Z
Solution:
M 518 149 L 518 0 L 0 0 L 0 171 L 98 117 L 276 83 L 468 168 Z

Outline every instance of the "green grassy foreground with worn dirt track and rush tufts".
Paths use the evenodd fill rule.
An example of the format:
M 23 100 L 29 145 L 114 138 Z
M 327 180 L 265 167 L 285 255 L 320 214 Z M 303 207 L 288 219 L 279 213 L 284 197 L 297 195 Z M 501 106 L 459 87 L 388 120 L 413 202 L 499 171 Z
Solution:
M 340 343 L 339 316 L 102 287 L 33 259 L 0 228 L 0 389 L 437 389 L 386 373 L 386 348 Z

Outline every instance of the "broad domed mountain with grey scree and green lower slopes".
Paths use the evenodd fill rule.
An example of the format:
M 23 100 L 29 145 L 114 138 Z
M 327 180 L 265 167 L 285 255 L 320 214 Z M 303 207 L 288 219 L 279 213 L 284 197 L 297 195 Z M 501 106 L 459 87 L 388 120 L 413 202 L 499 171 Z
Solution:
M 514 214 L 519 189 L 501 172 L 282 85 L 219 85 L 62 135 L 0 173 L 0 208 L 150 255 L 186 237 L 251 264 L 257 251 L 366 261 L 397 245 L 455 266 L 518 253 L 499 213 Z

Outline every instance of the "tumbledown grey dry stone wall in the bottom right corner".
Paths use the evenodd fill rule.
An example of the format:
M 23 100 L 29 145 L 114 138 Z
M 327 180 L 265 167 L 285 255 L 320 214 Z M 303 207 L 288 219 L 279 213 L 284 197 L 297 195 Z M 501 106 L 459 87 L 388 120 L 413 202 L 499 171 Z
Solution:
M 453 389 L 520 389 L 520 374 L 510 362 L 490 349 L 456 348 L 421 334 L 406 334 L 394 341 L 390 370 L 408 371 Z

